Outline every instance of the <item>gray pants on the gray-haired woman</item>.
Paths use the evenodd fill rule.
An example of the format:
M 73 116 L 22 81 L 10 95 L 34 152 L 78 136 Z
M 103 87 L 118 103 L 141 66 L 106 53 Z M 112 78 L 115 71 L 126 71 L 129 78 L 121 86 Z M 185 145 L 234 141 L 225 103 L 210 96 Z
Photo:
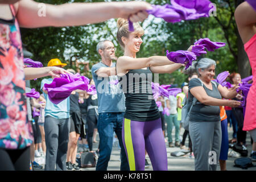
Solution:
M 221 123 L 189 121 L 196 171 L 216 171 L 221 148 Z

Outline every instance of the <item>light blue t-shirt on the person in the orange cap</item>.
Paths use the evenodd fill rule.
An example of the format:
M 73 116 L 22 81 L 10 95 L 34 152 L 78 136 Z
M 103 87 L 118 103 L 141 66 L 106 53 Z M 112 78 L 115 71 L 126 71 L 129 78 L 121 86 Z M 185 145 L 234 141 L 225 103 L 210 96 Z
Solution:
M 53 81 L 52 78 L 45 78 L 41 82 L 41 90 L 43 89 L 44 84 L 51 84 Z M 48 94 L 44 93 L 44 98 L 46 98 L 46 109 L 44 111 L 46 114 L 44 115 L 45 117 L 47 115 L 56 118 L 56 119 L 66 119 L 69 118 L 69 97 L 66 98 L 65 100 L 61 101 L 59 104 L 53 104 L 48 97 Z

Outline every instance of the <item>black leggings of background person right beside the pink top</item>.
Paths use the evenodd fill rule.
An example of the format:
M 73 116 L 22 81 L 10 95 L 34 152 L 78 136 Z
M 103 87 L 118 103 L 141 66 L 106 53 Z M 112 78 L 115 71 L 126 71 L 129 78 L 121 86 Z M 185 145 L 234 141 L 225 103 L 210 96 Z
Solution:
M 246 131 L 243 131 L 243 108 L 232 108 L 235 118 L 237 119 L 237 143 L 246 142 Z

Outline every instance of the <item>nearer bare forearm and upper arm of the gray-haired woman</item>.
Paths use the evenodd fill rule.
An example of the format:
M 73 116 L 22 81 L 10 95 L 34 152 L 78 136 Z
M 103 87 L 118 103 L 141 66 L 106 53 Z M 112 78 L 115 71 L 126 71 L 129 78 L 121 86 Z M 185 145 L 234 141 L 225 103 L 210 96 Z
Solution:
M 203 86 L 196 86 L 190 90 L 191 94 L 196 97 L 196 99 L 205 105 L 210 106 L 229 106 L 238 107 L 241 105 L 239 101 L 234 100 L 222 100 L 214 97 L 210 97 L 205 92 Z

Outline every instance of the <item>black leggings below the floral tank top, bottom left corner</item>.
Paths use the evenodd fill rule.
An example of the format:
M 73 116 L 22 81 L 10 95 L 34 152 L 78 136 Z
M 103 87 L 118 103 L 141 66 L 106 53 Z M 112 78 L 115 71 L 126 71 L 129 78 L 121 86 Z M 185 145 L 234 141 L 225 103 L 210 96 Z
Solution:
M 21 150 L 0 148 L 0 171 L 30 171 L 30 147 Z

